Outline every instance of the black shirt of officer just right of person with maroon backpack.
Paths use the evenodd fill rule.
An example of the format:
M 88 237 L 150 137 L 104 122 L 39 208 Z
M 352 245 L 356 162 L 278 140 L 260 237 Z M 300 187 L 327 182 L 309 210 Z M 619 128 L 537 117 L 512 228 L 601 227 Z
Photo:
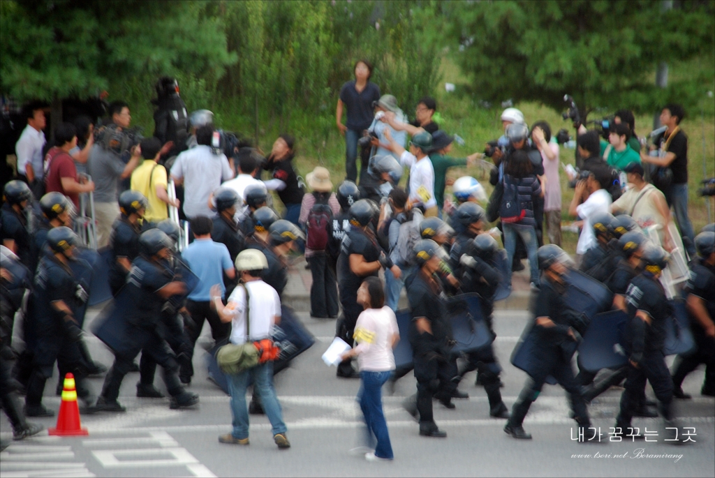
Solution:
M 358 305 L 358 289 L 363 279 L 368 276 L 358 276 L 350 269 L 350 254 L 360 254 L 365 262 L 375 262 L 380 259 L 380 247 L 375 240 L 368 237 L 363 229 L 351 227 L 345 233 L 340 246 L 340 256 L 337 258 L 337 284 L 340 292 L 340 304 L 347 314 L 355 314 L 355 318 L 363 312 L 363 307 Z M 377 277 L 375 271 L 370 276 Z

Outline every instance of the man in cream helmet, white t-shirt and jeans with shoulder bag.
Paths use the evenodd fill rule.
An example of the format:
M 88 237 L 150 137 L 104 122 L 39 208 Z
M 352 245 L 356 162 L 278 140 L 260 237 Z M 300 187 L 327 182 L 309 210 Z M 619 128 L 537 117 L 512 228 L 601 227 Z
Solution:
M 221 288 L 218 284 L 211 288 L 211 304 L 222 322 L 231 322 L 231 343 L 245 344 L 270 339 L 270 329 L 280 322 L 280 299 L 278 293 L 260 278 L 263 269 L 268 268 L 265 255 L 257 249 L 245 249 L 236 257 L 236 270 L 240 271 L 241 282 L 228 298 L 224 306 L 221 301 Z M 247 297 L 248 296 L 248 297 Z M 248 320 L 248 324 L 246 321 Z M 273 363 L 259 363 L 255 367 L 227 374 L 231 393 L 231 412 L 233 431 L 219 437 L 219 442 L 230 444 L 248 444 L 248 409 L 246 407 L 246 389 L 249 377 L 253 387 L 260 395 L 261 404 L 272 426 L 273 439 L 278 448 L 289 448 L 290 442 L 285 437 L 286 427 L 283 422 L 280 403 L 273 388 Z

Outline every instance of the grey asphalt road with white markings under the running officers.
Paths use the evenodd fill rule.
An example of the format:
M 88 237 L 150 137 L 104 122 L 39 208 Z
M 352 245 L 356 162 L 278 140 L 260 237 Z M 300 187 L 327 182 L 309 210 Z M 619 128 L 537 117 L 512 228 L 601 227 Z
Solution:
M 88 314 L 91 320 L 96 311 Z M 0 454 L 2 478 L 11 477 L 228 477 L 228 476 L 715 476 L 715 399 L 701 397 L 703 370 L 686 379 L 684 389 L 694 399 L 676 403 L 684 427 L 694 427 L 695 443 L 666 444 L 660 419 L 634 419 L 634 426 L 659 430 L 655 442 L 608 442 L 608 427 L 615 421 L 621 389 L 611 389 L 591 404 L 589 412 L 601 427 L 603 443 L 577 444 L 571 440 L 575 422 L 568 417 L 568 404 L 558 386 L 545 386 L 524 427 L 533 440 L 521 442 L 503 431 L 503 420 L 490 419 L 483 388 L 475 387 L 468 374 L 460 389 L 469 399 L 455 401 L 448 410 L 435 402 L 435 421 L 448 433 L 446 439 L 418 435 L 418 425 L 400 403 L 415 392 L 412 375 L 401 379 L 390 396 L 385 392 L 395 460 L 370 463 L 352 456 L 360 444 L 360 412 L 355 403 L 359 381 L 337 379 L 335 368 L 320 356 L 332 341 L 335 322 L 301 318 L 316 337 L 315 345 L 298 357 L 290 369 L 277 375 L 275 384 L 288 427 L 292 447 L 278 450 L 272 442 L 270 424 L 262 416 L 251 416 L 250 445 L 220 444 L 219 434 L 230 432 L 229 397 L 206 379 L 205 352 L 197 347 L 194 366 L 197 376 L 190 389 L 201 396 L 196 409 L 170 410 L 168 399 L 138 399 L 138 374 L 129 374 L 119 401 L 124 414 L 82 417 L 88 437 L 39 437 L 15 442 Z M 526 312 L 499 311 L 495 317 L 497 354 L 504 367 L 502 389 L 511 407 L 526 374 L 509 364 L 508 358 L 521 334 Z M 207 330 L 204 329 L 204 337 Z M 202 338 L 202 340 L 206 340 Z M 103 344 L 89 338 L 95 359 L 111 364 L 112 354 Z M 91 379 L 99 392 L 102 379 Z M 163 384 L 157 373 L 157 387 Z M 45 404 L 59 408 L 55 397 L 56 377 L 46 387 Z M 653 397 L 650 387 L 649 397 Z M 46 427 L 54 419 L 34 419 Z M 0 435 L 6 439 L 11 428 L 4 414 Z M 639 452 L 639 449 L 643 449 Z

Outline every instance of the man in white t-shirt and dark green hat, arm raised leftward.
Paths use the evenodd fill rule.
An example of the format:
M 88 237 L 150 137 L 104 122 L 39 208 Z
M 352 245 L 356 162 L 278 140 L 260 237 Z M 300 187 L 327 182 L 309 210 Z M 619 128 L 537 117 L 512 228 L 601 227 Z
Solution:
M 385 130 L 385 138 L 390 141 L 390 148 L 400 156 L 400 164 L 410 168 L 410 206 L 423 204 L 425 217 L 437 216 L 437 199 L 435 199 L 435 170 L 428 156 L 432 147 L 432 135 L 421 130 L 410 141 L 410 151 L 390 136 L 390 130 Z

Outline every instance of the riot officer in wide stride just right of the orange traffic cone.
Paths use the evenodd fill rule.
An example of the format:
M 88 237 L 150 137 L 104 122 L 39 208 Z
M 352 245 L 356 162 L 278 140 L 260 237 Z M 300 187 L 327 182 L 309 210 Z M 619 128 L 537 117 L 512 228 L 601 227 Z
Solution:
M 104 378 L 102 395 L 97 400 L 99 410 L 125 411 L 117 402 L 119 387 L 140 351 L 163 367 L 164 384 L 172 396 L 170 408 L 191 407 L 199 402 L 199 397 L 184 390 L 179 382 L 179 364 L 159 332 L 167 302 L 186 292 L 184 282 L 174 280 L 174 271 L 167 267 L 171 247 L 171 239 L 159 229 L 149 229 L 139 236 L 139 256 L 132 262 L 127 277 L 128 299 L 117 303 L 118 314 L 127 327 L 126 343 L 114 350 L 114 364 Z

